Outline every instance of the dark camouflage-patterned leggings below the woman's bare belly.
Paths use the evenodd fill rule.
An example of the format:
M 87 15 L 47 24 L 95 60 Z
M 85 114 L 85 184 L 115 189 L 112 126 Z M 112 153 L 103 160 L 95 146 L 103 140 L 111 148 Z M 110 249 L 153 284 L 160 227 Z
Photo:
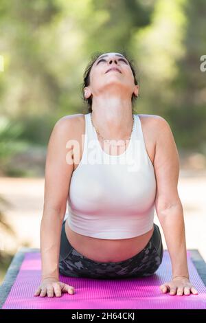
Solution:
M 150 276 L 157 271 L 163 258 L 163 245 L 158 225 L 155 225 L 150 241 L 144 249 L 132 258 L 115 263 L 91 260 L 74 249 L 62 224 L 60 241 L 59 272 L 63 276 L 100 279 L 138 278 Z

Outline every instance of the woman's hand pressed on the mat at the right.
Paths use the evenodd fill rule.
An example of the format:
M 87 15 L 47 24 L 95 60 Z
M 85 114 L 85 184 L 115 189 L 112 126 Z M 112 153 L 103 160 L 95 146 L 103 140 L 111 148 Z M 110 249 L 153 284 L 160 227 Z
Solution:
M 173 278 L 170 282 L 165 282 L 165 284 L 160 286 L 162 293 L 167 293 L 170 291 L 170 295 L 190 295 L 193 293 L 194 295 L 198 294 L 198 291 L 191 284 L 190 280 L 183 276 L 177 276 Z

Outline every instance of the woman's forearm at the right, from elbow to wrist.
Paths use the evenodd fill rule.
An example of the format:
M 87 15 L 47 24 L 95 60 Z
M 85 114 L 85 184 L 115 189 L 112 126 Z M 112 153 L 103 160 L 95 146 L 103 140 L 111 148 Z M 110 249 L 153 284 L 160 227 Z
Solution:
M 187 247 L 185 241 L 185 223 L 181 203 L 158 214 L 165 242 L 172 263 L 172 276 L 189 278 L 187 267 Z

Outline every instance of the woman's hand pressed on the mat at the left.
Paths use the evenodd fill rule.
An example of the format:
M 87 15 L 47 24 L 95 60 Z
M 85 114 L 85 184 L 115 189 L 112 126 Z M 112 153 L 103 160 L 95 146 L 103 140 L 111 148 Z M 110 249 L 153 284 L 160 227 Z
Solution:
M 34 296 L 45 297 L 60 297 L 62 293 L 73 294 L 74 289 L 72 286 L 60 282 L 56 278 L 45 278 L 41 281 L 41 285 L 36 289 Z

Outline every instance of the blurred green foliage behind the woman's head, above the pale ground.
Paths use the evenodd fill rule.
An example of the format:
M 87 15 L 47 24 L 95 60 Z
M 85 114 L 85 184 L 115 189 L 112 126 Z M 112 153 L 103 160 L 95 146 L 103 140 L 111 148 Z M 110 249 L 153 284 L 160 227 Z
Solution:
M 19 140 L 46 145 L 58 118 L 85 113 L 91 54 L 126 50 L 137 63 L 137 113 L 163 116 L 179 148 L 204 152 L 205 10 L 204 0 L 2 0 L 1 114 L 22 125 Z M 24 147 L 6 136 L 1 129 L 3 160 Z

